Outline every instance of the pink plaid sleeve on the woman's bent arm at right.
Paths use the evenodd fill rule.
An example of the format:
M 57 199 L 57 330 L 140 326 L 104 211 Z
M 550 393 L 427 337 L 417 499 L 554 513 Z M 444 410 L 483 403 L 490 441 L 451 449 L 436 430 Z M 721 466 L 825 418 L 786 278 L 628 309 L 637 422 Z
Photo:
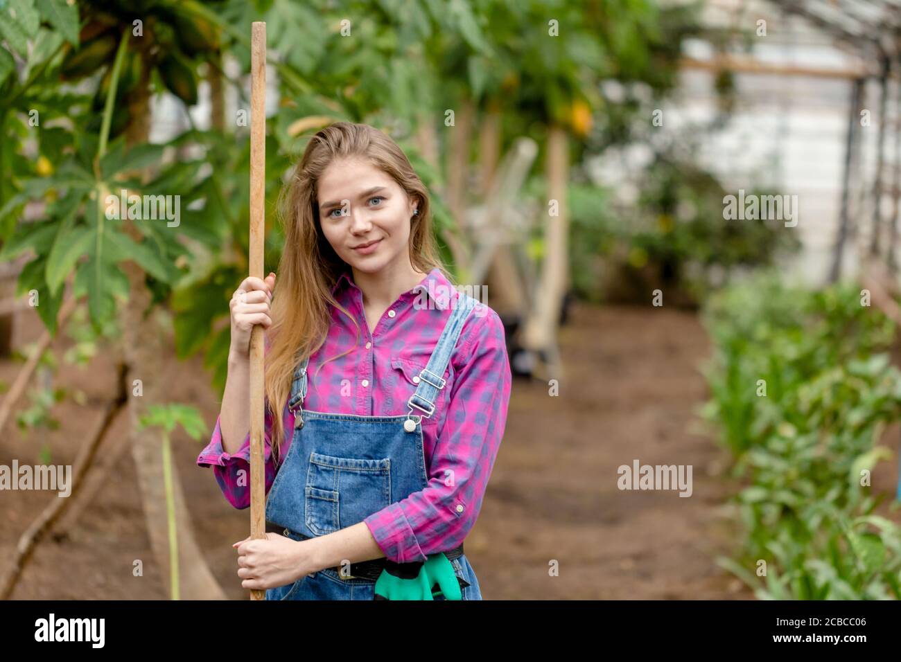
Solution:
M 478 518 L 504 437 L 511 374 L 504 325 L 490 308 L 463 346 L 428 485 L 364 521 L 386 558 L 424 561 L 454 549 Z M 457 361 L 454 361 L 455 365 Z

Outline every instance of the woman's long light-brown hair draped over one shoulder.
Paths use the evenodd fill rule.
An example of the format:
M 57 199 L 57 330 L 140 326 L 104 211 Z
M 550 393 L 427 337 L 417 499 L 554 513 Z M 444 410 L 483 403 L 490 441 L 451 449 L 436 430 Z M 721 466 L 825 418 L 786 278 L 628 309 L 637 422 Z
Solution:
M 272 417 L 268 442 L 277 466 L 280 446 L 286 436 L 281 412 L 287 403 L 294 371 L 297 364 L 325 342 L 332 321 L 330 304 L 354 323 L 359 342 L 359 324 L 332 296 L 332 287 L 349 265 L 325 239 L 316 200 L 316 183 L 325 168 L 334 159 L 347 158 L 368 160 L 393 177 L 406 195 L 418 201 L 419 213 L 412 217 L 410 226 L 411 264 L 426 273 L 433 268 L 444 271 L 432 235 L 428 189 L 396 142 L 369 124 L 335 122 L 318 131 L 307 143 L 303 157 L 291 171 L 290 180 L 278 199 L 285 247 L 278 263 L 276 294 L 272 297 L 265 380 L 267 406 Z M 282 441 L 273 444 L 271 440 Z

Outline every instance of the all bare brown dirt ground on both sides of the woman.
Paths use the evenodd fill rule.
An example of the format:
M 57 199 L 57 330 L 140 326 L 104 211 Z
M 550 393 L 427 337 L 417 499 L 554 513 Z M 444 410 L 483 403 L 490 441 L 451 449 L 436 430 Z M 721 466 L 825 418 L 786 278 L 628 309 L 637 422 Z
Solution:
M 14 343 L 41 331 L 22 314 Z M 748 593 L 714 567 L 727 533 L 716 518 L 727 487 L 711 469 L 724 455 L 689 432 L 704 399 L 696 367 L 705 335 L 689 313 L 667 309 L 576 307 L 561 338 L 567 374 L 560 395 L 541 383 L 515 382 L 505 440 L 467 555 L 489 599 L 728 598 Z M 56 347 L 70 343 L 59 340 Z M 0 380 L 21 364 L 0 362 Z M 201 408 L 212 429 L 219 403 L 200 358 L 167 361 L 173 401 Z M 82 389 L 83 405 L 68 399 L 54 414 L 56 431 L 27 438 L 7 426 L 0 464 L 39 461 L 41 445 L 53 464 L 71 463 L 103 399 L 113 393 L 108 357 L 82 370 L 60 364 L 59 384 Z M 114 433 L 123 433 L 123 421 Z M 205 442 L 204 442 L 205 443 Z M 246 599 L 235 574 L 231 543 L 246 536 L 249 511 L 225 502 L 212 470 L 195 465 L 201 447 L 183 437 L 175 455 L 196 535 L 214 574 L 233 599 Z M 693 466 L 694 492 L 624 492 L 616 469 L 642 464 Z M 166 594 L 150 556 L 131 455 L 126 451 L 77 527 L 37 550 L 16 599 L 160 599 Z M 0 559 L 50 497 L 46 492 L 0 493 Z M 143 576 L 133 576 L 136 559 Z M 559 576 L 549 576 L 552 559 Z M 5 569 L 0 560 L 0 570 Z

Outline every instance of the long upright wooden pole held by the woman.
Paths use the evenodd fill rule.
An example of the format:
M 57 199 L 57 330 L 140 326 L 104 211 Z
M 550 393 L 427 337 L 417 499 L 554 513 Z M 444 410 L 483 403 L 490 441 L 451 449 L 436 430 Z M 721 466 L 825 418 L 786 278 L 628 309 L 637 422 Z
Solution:
M 266 23 L 254 22 L 250 37 L 250 276 L 263 278 L 266 230 Z M 250 538 L 266 538 L 263 327 L 250 333 Z M 266 591 L 251 590 L 250 600 Z

